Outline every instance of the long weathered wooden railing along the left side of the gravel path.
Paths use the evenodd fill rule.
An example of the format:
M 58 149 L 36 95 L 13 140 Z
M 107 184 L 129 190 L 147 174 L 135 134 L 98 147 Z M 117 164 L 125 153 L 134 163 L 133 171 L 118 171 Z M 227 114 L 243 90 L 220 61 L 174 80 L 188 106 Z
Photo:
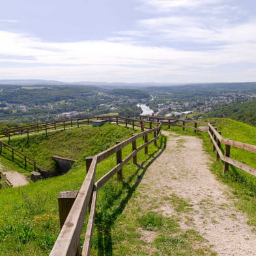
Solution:
M 124 117 L 122 119 L 127 119 L 128 122 L 128 118 Z M 132 119 L 130 119 L 130 121 L 132 121 Z M 138 120 L 136 119 L 135 121 Z M 64 214 L 60 212 L 60 216 L 62 216 L 61 218 L 66 218 L 66 220 L 61 220 L 61 223 L 64 222 L 64 225 L 61 229 L 61 232 L 59 233 L 55 245 L 53 246 L 53 249 L 51 250 L 51 256 L 80 254 L 78 253 L 79 240 L 81 236 L 81 230 L 83 228 L 83 223 L 85 220 L 85 214 L 88 207 L 91 210 L 89 214 L 89 222 L 87 224 L 87 231 L 81 255 L 90 255 L 92 229 L 94 225 L 96 198 L 98 190 L 102 188 L 102 186 L 104 186 L 104 184 L 106 184 L 106 182 L 115 174 L 117 174 L 118 179 L 121 180 L 122 167 L 124 167 L 124 165 L 126 165 L 131 159 L 133 159 L 134 164 L 137 164 L 137 153 L 140 150 L 145 149 L 145 154 L 147 154 L 148 146 L 151 143 L 155 143 L 156 145 L 156 140 L 159 138 L 160 133 L 161 124 L 158 124 L 158 126 L 156 126 L 155 128 L 152 128 L 145 132 L 141 132 L 139 134 L 135 134 L 132 137 L 126 139 L 125 141 L 119 142 L 117 145 L 101 152 L 100 154 L 92 158 L 87 158 L 87 176 L 83 182 L 83 185 L 81 186 L 81 189 L 79 190 L 79 193 L 77 195 L 76 193 L 73 193 L 76 197 L 74 204 L 72 205 L 72 208 L 70 209 L 67 217 L 63 216 Z M 153 138 L 150 140 L 148 140 L 149 134 L 153 134 Z M 137 147 L 136 141 L 140 137 L 144 138 L 144 143 L 143 145 Z M 122 149 L 127 145 L 132 145 L 132 152 L 131 154 L 126 156 L 126 158 L 122 159 Z M 113 167 L 113 169 L 111 169 L 106 175 L 97 180 L 97 182 L 95 182 L 94 177 L 97 165 L 106 158 L 108 158 L 109 156 L 112 156 L 113 154 L 116 154 L 117 165 Z M 60 201 L 63 200 L 63 197 L 64 195 L 61 195 L 61 198 L 59 200 L 59 205 L 62 209 L 63 206 L 61 206 Z M 64 203 L 64 205 L 66 206 L 66 203 Z M 66 209 L 64 210 L 64 212 L 65 211 Z

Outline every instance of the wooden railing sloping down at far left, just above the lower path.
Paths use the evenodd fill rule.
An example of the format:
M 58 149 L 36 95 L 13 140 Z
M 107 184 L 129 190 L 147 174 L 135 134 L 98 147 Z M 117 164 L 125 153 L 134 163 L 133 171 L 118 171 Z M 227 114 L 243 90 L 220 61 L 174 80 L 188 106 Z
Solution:
M 14 147 L 11 147 L 7 143 L 0 140 L 0 155 L 2 154 L 3 149 L 5 149 L 11 153 L 12 161 L 14 160 L 14 156 L 17 156 L 18 158 L 20 158 L 23 161 L 23 165 L 24 165 L 25 169 L 27 168 L 27 164 L 30 164 L 34 168 L 34 171 L 40 170 L 40 168 L 38 166 L 38 162 L 36 162 L 35 160 L 30 158 L 26 154 L 23 154 L 19 150 L 15 149 Z

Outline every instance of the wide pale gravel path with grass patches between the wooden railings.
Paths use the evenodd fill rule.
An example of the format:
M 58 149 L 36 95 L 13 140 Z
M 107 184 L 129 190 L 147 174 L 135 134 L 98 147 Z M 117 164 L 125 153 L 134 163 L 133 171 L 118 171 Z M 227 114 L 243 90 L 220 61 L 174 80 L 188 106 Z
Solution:
M 219 256 L 256 255 L 256 235 L 246 216 L 236 210 L 229 188 L 210 172 L 201 139 L 165 135 L 169 135 L 166 149 L 141 180 L 149 197 L 162 202 L 158 210 L 165 216 L 177 214 L 173 199 L 184 199 L 191 210 L 178 213 L 182 229 L 199 231 Z

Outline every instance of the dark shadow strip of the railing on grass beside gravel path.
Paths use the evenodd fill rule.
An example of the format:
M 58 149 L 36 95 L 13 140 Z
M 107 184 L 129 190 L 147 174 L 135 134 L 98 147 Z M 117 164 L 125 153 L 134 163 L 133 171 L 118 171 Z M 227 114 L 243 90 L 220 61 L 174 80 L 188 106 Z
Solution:
M 139 186 L 139 183 L 141 182 L 141 179 L 145 175 L 145 172 L 149 166 L 164 152 L 166 148 L 166 141 L 167 138 L 165 136 L 160 137 L 160 145 L 158 149 L 152 154 L 149 154 L 147 159 L 145 159 L 141 165 L 137 165 L 135 173 L 130 175 L 130 177 L 122 182 L 122 190 L 115 193 L 115 191 L 113 191 L 113 187 L 111 187 L 112 190 L 105 191 L 105 193 L 112 193 L 112 196 L 110 195 L 112 200 L 107 200 L 105 206 L 96 212 L 95 227 L 97 229 L 98 236 L 96 238 L 95 246 L 98 251 L 98 256 L 113 255 L 111 227 L 115 220 L 117 220 L 118 216 L 122 214 L 122 211 L 132 197 L 132 194 L 135 192 L 137 186 Z M 145 166 L 143 166 L 144 164 Z M 131 186 L 130 182 L 132 182 L 136 176 L 137 180 L 135 180 L 134 184 Z M 124 190 L 125 196 L 121 199 Z M 115 206 L 118 199 L 121 199 L 121 203 Z

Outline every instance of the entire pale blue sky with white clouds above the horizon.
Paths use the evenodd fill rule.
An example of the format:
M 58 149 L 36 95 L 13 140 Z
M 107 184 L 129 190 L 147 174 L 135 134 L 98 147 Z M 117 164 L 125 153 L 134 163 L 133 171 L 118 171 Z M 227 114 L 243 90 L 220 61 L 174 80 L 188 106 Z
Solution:
M 256 81 L 254 0 L 8 0 L 0 79 Z

